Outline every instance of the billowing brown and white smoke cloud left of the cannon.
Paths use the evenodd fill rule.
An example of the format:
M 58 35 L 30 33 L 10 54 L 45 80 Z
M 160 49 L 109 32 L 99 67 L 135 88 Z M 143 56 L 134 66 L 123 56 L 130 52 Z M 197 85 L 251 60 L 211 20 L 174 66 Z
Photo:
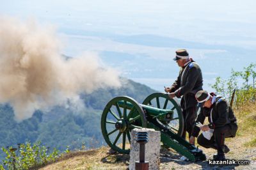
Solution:
M 97 54 L 61 56 L 52 27 L 10 17 L 0 24 L 0 102 L 12 105 L 17 121 L 36 109 L 79 102 L 79 93 L 120 86 L 116 70 L 102 66 Z

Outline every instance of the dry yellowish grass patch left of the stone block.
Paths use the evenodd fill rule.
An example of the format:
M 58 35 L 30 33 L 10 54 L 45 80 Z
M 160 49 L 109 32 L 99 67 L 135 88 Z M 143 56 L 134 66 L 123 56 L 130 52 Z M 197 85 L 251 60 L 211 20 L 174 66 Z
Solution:
M 70 151 L 59 158 L 58 162 L 41 169 L 127 169 L 129 155 L 108 154 L 109 147 L 88 151 Z

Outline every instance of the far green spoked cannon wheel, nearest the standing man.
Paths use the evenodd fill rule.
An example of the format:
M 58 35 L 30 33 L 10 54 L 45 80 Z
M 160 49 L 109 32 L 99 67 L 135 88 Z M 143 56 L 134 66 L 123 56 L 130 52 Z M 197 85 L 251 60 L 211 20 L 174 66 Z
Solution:
M 153 93 L 145 98 L 144 105 L 151 105 L 159 109 L 171 109 L 173 110 L 173 118 L 168 123 L 163 123 L 166 127 L 170 128 L 172 132 L 178 135 L 182 135 L 184 130 L 184 119 L 180 109 L 180 105 L 174 100 L 169 98 L 166 93 Z

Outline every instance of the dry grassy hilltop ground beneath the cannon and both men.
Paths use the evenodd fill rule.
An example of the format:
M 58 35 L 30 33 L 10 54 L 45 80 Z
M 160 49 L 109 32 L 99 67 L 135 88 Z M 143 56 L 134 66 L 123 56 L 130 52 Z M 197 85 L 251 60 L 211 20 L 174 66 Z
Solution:
M 181 155 L 174 150 L 161 149 L 160 169 L 255 169 L 256 167 L 256 107 L 235 109 L 239 130 L 235 138 L 226 140 L 230 152 L 226 157 L 235 160 L 250 160 L 248 166 L 209 166 L 207 160 L 212 158 L 215 150 L 200 147 L 207 160 L 204 162 L 184 162 Z M 108 154 L 108 147 L 97 150 L 76 151 L 68 153 L 58 160 L 40 169 L 127 169 L 129 155 Z

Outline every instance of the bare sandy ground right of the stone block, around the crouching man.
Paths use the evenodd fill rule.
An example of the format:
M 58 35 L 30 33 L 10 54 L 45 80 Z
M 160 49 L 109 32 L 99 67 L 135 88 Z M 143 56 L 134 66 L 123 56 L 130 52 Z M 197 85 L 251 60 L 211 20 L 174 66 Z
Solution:
M 250 160 L 249 165 L 239 166 L 213 166 L 209 165 L 209 159 L 216 153 L 216 150 L 202 149 L 207 157 L 207 160 L 200 162 L 187 162 L 180 160 L 181 155 L 172 150 L 163 150 L 161 152 L 161 165 L 160 169 L 256 169 L 256 148 L 245 147 L 244 143 L 250 141 L 249 137 L 238 137 L 228 139 L 226 144 L 230 148 L 230 152 L 226 154 L 226 158 L 234 160 Z

